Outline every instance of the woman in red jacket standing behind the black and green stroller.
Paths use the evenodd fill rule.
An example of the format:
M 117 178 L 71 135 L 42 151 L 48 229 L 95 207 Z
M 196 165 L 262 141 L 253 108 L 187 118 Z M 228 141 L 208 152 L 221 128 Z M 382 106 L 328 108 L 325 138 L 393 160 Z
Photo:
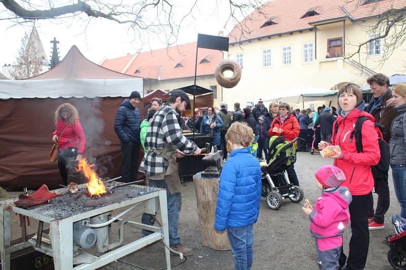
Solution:
M 283 136 L 287 141 L 296 138 L 300 133 L 299 123 L 292 114 L 288 103 L 279 105 L 279 115 L 272 121 L 269 128 L 269 138 L 272 136 Z M 290 165 L 286 170 L 289 181 L 294 185 L 299 185 L 299 180 L 295 172 L 294 165 Z

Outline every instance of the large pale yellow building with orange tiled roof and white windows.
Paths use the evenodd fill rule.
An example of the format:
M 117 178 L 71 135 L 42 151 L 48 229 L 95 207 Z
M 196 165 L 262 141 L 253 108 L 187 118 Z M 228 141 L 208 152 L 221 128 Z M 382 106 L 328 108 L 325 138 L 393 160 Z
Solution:
M 308 85 L 331 89 L 351 82 L 366 84 L 374 73 L 392 75 L 403 70 L 406 45 L 397 48 L 381 65 L 382 40 L 362 47 L 369 40 L 368 26 L 390 8 L 406 6 L 406 1 L 275 0 L 265 3 L 230 32 L 228 57 L 242 67 L 240 83 L 224 89 L 228 104 L 254 104 L 273 92 Z M 328 58 L 330 57 L 330 58 Z

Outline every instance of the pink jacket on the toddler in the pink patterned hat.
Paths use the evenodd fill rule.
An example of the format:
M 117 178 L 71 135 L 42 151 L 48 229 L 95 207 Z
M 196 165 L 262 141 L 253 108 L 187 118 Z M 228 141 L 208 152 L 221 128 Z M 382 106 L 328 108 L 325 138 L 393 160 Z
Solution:
M 324 189 L 317 199 L 309 218 L 310 231 L 321 251 L 343 244 L 341 235 L 350 220 L 347 209 L 351 201 L 350 191 L 345 186 Z

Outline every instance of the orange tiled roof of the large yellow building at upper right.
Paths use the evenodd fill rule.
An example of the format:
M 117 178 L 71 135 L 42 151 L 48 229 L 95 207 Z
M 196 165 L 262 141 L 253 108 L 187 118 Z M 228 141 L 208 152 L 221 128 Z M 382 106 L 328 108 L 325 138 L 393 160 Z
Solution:
M 381 0 L 360 5 L 364 0 L 274 0 L 266 2 L 236 24 L 229 34 L 229 43 L 251 40 L 263 36 L 276 35 L 291 31 L 312 28 L 313 23 L 324 20 L 347 17 L 351 20 L 367 18 L 382 14 L 388 9 L 406 6 L 406 0 Z M 304 17 L 309 10 L 316 10 L 319 15 Z M 270 17 L 277 24 L 261 27 Z

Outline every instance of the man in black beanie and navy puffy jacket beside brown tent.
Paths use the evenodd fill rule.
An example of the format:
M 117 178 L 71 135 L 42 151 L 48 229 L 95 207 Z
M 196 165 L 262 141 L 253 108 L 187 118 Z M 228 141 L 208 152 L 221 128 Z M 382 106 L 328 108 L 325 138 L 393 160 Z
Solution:
M 122 182 L 137 181 L 138 157 L 140 155 L 141 114 L 137 108 L 141 95 L 133 91 L 125 99 L 116 113 L 114 131 L 121 144 L 121 179 Z

